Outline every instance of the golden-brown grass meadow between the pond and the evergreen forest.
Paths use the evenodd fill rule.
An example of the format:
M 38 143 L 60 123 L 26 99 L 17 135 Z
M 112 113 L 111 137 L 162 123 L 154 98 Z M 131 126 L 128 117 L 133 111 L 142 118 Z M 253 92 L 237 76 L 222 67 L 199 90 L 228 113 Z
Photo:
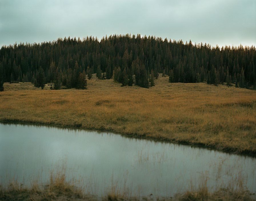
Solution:
M 113 79 L 87 90 L 4 84 L 0 121 L 107 130 L 126 136 L 206 146 L 256 156 L 256 91 L 155 80 L 149 89 Z M 32 90 L 33 89 L 33 90 Z

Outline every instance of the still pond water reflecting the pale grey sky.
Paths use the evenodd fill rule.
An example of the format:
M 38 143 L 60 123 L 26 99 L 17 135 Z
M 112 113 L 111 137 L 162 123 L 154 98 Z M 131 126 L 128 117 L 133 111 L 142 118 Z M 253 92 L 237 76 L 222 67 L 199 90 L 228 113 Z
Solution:
M 173 196 L 206 183 L 256 193 L 255 158 L 97 131 L 0 124 L 0 182 L 65 174 L 85 193 Z

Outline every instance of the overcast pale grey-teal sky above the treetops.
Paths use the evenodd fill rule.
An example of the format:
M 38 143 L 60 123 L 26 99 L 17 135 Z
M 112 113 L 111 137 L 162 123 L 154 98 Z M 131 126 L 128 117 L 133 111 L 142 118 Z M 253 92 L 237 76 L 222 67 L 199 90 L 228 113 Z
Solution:
M 0 46 L 127 33 L 256 46 L 256 1 L 0 0 Z

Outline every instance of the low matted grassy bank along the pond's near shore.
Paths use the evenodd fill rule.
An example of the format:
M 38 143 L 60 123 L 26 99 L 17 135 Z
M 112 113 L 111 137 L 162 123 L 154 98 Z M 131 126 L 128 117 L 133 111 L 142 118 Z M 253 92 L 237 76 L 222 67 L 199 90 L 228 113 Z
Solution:
M 82 189 L 70 185 L 65 181 L 65 178 L 61 176 L 56 180 L 50 181 L 45 186 L 31 186 L 31 188 L 24 188 L 19 183 L 11 182 L 7 188 L 3 188 L 0 185 L 0 200 L 91 200 L 91 201 L 253 201 L 255 196 L 246 190 L 228 190 L 219 189 L 216 192 L 209 193 L 206 187 L 199 189 L 198 191 L 187 191 L 183 194 L 176 194 L 174 197 L 155 198 L 151 195 L 142 198 L 127 198 L 125 195 L 108 193 L 103 198 L 98 198 L 94 195 L 84 195 Z

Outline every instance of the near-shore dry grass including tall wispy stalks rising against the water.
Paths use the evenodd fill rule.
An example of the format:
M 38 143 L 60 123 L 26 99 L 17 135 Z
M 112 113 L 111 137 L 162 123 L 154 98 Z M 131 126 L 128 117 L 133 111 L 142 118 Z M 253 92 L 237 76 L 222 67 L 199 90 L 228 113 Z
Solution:
M 49 181 L 46 183 L 40 180 L 31 181 L 31 185 L 28 186 L 19 183 L 18 180 L 10 180 L 7 185 L 0 185 L 0 200 L 255 200 L 255 196 L 243 187 L 244 180 L 240 177 L 237 178 L 237 182 L 241 183 L 239 188 L 226 187 L 214 192 L 209 191 L 207 174 L 202 174 L 195 184 L 191 182 L 191 187 L 187 191 L 179 192 L 172 197 L 159 197 L 152 194 L 132 196 L 134 193 L 130 191 L 132 188 L 126 186 L 125 175 L 121 183 L 119 179 L 115 180 L 112 177 L 110 188 L 107 188 L 105 194 L 99 197 L 86 190 L 89 183 L 83 187 L 76 186 L 82 182 L 81 178 L 79 181 L 76 178 L 73 178 L 73 181 L 68 180 L 65 165 L 62 164 L 56 168 L 50 171 Z

